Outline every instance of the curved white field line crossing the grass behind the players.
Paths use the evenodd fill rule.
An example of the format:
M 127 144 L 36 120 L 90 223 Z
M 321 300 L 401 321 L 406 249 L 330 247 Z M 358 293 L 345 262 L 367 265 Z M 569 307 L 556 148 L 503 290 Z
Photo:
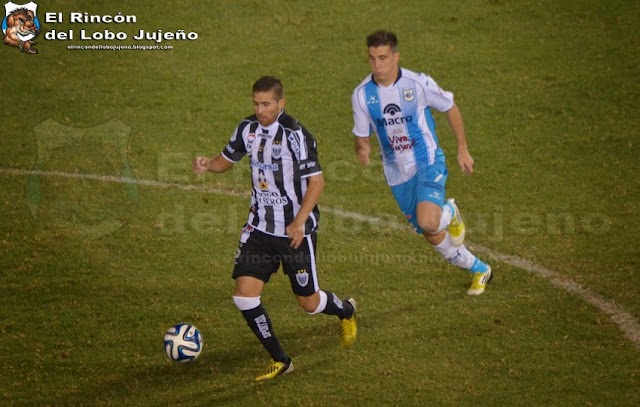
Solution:
M 0 174 L 7 174 L 7 175 L 13 175 L 13 176 L 37 175 L 37 176 L 44 176 L 44 177 L 58 177 L 58 178 L 70 178 L 70 179 L 84 179 L 84 180 L 88 179 L 88 180 L 95 180 L 95 181 L 101 181 L 101 182 L 113 182 L 113 183 L 119 183 L 119 184 L 135 184 L 140 186 L 149 186 L 149 187 L 157 187 L 157 188 L 165 188 L 165 189 L 179 189 L 183 191 L 199 191 L 199 192 L 218 194 L 218 195 L 227 195 L 227 196 L 237 196 L 237 197 L 249 196 L 248 193 L 210 188 L 204 185 L 190 185 L 190 184 L 162 182 L 162 181 L 136 179 L 136 178 L 128 178 L 128 177 L 116 177 L 113 175 L 80 174 L 80 173 L 70 173 L 70 172 L 60 172 L 60 171 L 20 170 L 20 169 L 12 169 L 12 168 L 0 168 Z M 322 211 L 330 213 L 334 216 L 344 218 L 344 219 L 352 219 L 359 222 L 367 222 L 374 225 L 386 227 L 389 229 L 410 230 L 406 225 L 402 225 L 397 222 L 390 222 L 381 218 L 364 215 L 357 212 L 348 212 L 348 211 L 343 211 L 341 209 L 331 208 L 327 206 L 323 206 Z M 510 266 L 516 267 L 518 269 L 524 270 L 526 272 L 536 274 L 548 280 L 554 286 L 566 292 L 572 293 L 578 296 L 579 298 L 582 298 L 587 303 L 595 306 L 603 313 L 609 315 L 613 320 L 613 322 L 615 322 L 618 325 L 618 327 L 622 330 L 622 332 L 624 332 L 627 338 L 631 340 L 631 342 L 636 346 L 636 348 L 640 349 L 640 324 L 638 323 L 638 321 L 635 320 L 635 318 L 630 313 L 622 309 L 614 301 L 608 300 L 599 294 L 592 293 L 586 288 L 556 273 L 555 271 L 552 271 L 546 267 L 535 264 L 529 260 L 520 258 L 518 256 L 500 253 L 478 244 L 473 244 L 472 248 L 474 251 L 486 254 L 501 263 L 505 263 Z

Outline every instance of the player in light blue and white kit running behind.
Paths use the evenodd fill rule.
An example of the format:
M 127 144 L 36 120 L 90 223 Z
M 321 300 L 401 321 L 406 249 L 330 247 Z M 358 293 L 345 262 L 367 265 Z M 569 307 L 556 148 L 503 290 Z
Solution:
M 469 295 L 482 294 L 491 267 L 463 244 L 465 226 L 453 199 L 445 200 L 447 167 L 438 144 L 432 109 L 445 112 L 458 145 L 458 164 L 473 173 L 460 110 L 453 94 L 428 75 L 400 68 L 398 39 L 389 31 L 367 37 L 372 74 L 354 90 L 355 151 L 369 163 L 369 136 L 376 134 L 387 183 L 405 217 L 451 264 L 473 275 Z

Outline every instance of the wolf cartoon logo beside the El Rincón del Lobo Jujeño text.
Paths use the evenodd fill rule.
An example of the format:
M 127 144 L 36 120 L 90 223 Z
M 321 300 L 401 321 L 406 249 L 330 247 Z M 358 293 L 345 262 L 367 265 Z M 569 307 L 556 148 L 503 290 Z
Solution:
M 25 54 L 37 54 L 33 46 L 33 39 L 40 32 L 40 21 L 36 17 L 38 5 L 34 2 L 27 4 L 5 3 L 4 19 L 2 20 L 2 42 L 10 47 L 17 47 Z

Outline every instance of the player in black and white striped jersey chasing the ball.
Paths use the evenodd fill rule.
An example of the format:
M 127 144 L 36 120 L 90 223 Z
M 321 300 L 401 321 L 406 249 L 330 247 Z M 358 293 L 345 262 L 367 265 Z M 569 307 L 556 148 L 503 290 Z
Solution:
M 305 311 L 340 319 L 343 347 L 351 346 L 357 335 L 355 300 L 341 300 L 319 287 L 317 202 L 324 179 L 313 135 L 286 114 L 284 106 L 280 80 L 273 76 L 258 79 L 253 85 L 255 114 L 240 122 L 221 154 L 193 160 L 195 173 L 220 173 L 249 156 L 251 207 L 232 276 L 236 281 L 233 301 L 272 358 L 256 380 L 272 379 L 293 370 L 293 362 L 260 301 L 265 284 L 281 264 Z

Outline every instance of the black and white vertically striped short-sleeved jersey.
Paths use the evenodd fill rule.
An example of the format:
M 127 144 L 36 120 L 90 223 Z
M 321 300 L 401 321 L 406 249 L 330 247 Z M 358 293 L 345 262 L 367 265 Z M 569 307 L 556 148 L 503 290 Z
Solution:
M 253 189 L 247 223 L 286 237 L 285 228 L 300 210 L 306 193 L 306 178 L 322 172 L 313 135 L 284 111 L 268 127 L 252 115 L 236 127 L 222 155 L 233 163 L 249 156 Z M 316 206 L 307 219 L 305 234 L 316 231 L 319 220 Z

